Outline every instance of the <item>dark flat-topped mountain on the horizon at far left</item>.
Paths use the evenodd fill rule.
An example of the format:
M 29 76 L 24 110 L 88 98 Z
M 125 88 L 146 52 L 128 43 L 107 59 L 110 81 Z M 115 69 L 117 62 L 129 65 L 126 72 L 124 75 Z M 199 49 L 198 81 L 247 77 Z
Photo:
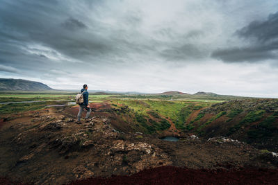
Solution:
M 0 78 L 0 91 L 47 91 L 55 90 L 42 82 L 30 80 Z

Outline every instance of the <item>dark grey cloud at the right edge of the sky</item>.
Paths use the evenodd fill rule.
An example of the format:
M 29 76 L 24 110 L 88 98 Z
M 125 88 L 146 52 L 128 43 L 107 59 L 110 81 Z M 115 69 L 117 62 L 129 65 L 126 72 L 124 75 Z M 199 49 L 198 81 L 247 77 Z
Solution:
M 278 58 L 278 12 L 270 14 L 265 21 L 252 21 L 236 30 L 235 35 L 250 45 L 218 49 L 211 57 L 224 62 L 263 62 Z

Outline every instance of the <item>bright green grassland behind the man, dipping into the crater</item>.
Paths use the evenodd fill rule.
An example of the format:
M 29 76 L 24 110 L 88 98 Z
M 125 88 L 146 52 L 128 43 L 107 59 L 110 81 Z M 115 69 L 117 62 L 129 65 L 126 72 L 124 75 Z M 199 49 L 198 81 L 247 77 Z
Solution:
M 42 101 L 38 103 L 14 103 L 0 105 L 1 114 L 11 114 L 15 112 L 24 112 L 27 110 L 41 109 L 45 105 L 59 105 L 63 104 L 58 101 L 74 101 L 76 94 L 37 94 L 37 93 L 17 93 L 17 94 L 0 94 L 0 102 L 20 102 L 20 101 Z M 128 106 L 136 115 L 145 116 L 149 118 L 150 111 L 152 114 L 161 115 L 165 118 L 170 118 L 171 121 L 179 129 L 185 129 L 184 123 L 193 110 L 207 107 L 213 103 L 222 102 L 222 100 L 200 100 L 200 99 L 178 99 L 168 100 L 172 96 L 152 96 L 152 95 L 113 95 L 113 94 L 90 94 L 89 101 L 92 103 L 110 102 L 114 106 L 124 105 Z M 55 102 L 56 101 L 56 102 Z

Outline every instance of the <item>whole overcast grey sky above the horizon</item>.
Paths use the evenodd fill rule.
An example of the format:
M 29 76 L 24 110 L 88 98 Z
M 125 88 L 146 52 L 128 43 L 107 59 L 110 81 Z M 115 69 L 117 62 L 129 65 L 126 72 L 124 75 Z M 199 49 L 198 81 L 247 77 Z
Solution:
M 0 0 L 0 78 L 278 98 L 277 0 Z

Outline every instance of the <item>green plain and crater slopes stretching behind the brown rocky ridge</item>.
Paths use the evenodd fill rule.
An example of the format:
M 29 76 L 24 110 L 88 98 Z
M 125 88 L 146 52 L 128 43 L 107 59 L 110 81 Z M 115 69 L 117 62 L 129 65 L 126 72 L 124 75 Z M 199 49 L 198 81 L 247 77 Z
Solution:
M 74 101 L 76 93 L 0 93 L 0 117 Z M 225 97 L 227 98 L 225 100 Z M 15 103 L 20 101 L 38 101 Z M 109 103 L 119 124 L 154 134 L 175 129 L 198 136 L 229 136 L 262 148 L 277 146 L 277 99 L 238 96 L 90 94 L 90 103 Z M 13 103 L 14 102 L 14 103 Z M 5 104 L 6 103 L 6 104 Z M 70 105 L 71 106 L 71 105 Z M 263 142 L 263 143 L 262 143 Z M 274 150 L 277 150 L 274 148 Z

